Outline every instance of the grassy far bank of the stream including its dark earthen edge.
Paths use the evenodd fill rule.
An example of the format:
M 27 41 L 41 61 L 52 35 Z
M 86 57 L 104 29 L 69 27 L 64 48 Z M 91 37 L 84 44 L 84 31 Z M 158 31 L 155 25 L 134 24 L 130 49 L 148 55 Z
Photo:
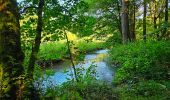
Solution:
M 70 49 L 75 60 L 83 60 L 86 53 L 106 48 L 103 42 L 79 41 L 72 44 Z M 45 67 L 70 59 L 65 42 L 42 43 L 38 54 L 37 64 Z

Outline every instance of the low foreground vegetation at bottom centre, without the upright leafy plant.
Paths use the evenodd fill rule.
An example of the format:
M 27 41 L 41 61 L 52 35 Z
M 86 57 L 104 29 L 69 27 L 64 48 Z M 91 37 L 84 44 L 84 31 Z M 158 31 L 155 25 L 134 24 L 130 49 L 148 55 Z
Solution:
M 67 82 L 60 87 L 49 88 L 47 94 L 43 97 L 63 100 L 68 98 L 71 100 L 119 100 L 118 94 L 115 92 L 113 86 L 100 81 L 93 83 Z

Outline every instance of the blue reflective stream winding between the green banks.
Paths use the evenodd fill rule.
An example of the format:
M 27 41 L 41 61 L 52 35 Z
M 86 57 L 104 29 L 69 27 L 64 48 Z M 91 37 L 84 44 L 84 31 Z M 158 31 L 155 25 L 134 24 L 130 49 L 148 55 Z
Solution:
M 96 65 L 96 78 L 98 80 L 105 81 L 107 83 L 111 83 L 114 76 L 114 68 L 111 67 L 108 60 L 108 51 L 105 50 L 97 50 L 95 52 L 91 52 L 85 55 L 84 61 L 78 61 L 75 63 L 76 68 L 83 67 L 84 69 L 89 68 L 92 64 Z M 60 62 L 57 65 L 52 67 L 54 71 L 53 75 L 49 76 L 44 84 L 53 84 L 53 85 L 61 85 L 69 79 L 73 78 L 71 74 L 73 74 L 73 68 L 70 60 L 66 60 L 64 62 Z

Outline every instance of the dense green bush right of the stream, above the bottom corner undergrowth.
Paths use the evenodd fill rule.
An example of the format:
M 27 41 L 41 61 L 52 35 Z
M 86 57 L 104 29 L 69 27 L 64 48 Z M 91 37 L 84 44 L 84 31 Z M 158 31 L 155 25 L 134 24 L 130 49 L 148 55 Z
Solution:
M 111 50 L 111 60 L 120 65 L 115 83 L 169 80 L 170 41 L 130 43 Z

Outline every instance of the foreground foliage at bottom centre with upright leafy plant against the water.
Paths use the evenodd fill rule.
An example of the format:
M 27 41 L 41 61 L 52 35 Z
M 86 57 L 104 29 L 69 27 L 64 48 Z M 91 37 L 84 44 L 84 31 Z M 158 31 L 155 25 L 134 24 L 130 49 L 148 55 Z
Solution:
M 69 98 L 70 100 L 118 99 L 118 94 L 113 89 L 113 86 L 96 80 L 95 65 L 92 64 L 87 69 L 83 67 L 78 68 L 77 76 L 79 79 L 78 82 L 69 79 L 61 86 L 50 87 L 42 98 Z

